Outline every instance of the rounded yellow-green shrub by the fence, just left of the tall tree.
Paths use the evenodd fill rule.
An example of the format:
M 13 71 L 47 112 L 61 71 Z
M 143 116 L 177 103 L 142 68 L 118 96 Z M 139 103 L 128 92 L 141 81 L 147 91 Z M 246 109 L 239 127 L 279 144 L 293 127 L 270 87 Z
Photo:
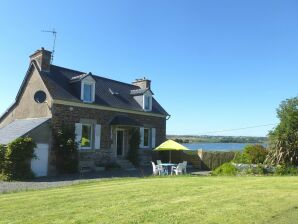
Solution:
M 264 163 L 268 155 L 267 149 L 262 145 L 247 145 L 243 153 L 237 152 L 235 155 L 235 163 L 259 164 Z

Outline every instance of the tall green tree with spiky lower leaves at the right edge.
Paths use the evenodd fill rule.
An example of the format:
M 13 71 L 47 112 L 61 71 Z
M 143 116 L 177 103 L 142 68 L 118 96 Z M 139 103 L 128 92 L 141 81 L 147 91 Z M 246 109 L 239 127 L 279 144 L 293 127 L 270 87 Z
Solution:
M 269 133 L 269 154 L 266 163 L 271 165 L 298 165 L 298 97 L 283 101 L 277 109 L 280 122 Z

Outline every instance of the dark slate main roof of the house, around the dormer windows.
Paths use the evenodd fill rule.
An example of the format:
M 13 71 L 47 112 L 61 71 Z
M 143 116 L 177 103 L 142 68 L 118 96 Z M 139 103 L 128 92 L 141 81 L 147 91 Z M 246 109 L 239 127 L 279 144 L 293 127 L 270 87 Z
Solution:
M 74 80 L 81 80 L 86 74 L 91 75 L 96 81 L 95 104 L 100 106 L 144 111 L 134 99 L 132 92 L 143 91 L 139 87 L 91 73 L 75 71 L 55 65 L 51 65 L 51 72 L 41 72 L 41 77 L 54 99 L 72 102 L 82 102 L 80 92 L 75 88 Z M 115 94 L 117 93 L 117 94 Z M 153 98 L 152 113 L 168 115 L 162 106 Z M 148 112 L 150 113 L 150 112 Z

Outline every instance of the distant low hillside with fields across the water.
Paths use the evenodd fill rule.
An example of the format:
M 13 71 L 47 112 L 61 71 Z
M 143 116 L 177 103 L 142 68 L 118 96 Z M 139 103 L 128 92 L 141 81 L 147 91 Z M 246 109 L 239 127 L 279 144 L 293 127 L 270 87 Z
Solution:
M 209 136 L 209 135 L 167 135 L 168 139 L 175 140 L 180 143 L 266 143 L 267 137 L 251 137 L 251 136 Z

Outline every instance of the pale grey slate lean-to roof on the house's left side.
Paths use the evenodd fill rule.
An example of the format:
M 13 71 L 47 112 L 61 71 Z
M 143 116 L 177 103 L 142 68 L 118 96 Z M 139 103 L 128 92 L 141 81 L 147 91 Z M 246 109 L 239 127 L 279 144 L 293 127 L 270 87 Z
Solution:
M 12 123 L 0 128 L 0 144 L 6 145 L 17 138 L 28 134 L 28 132 L 42 125 L 49 119 L 51 118 L 14 120 Z

